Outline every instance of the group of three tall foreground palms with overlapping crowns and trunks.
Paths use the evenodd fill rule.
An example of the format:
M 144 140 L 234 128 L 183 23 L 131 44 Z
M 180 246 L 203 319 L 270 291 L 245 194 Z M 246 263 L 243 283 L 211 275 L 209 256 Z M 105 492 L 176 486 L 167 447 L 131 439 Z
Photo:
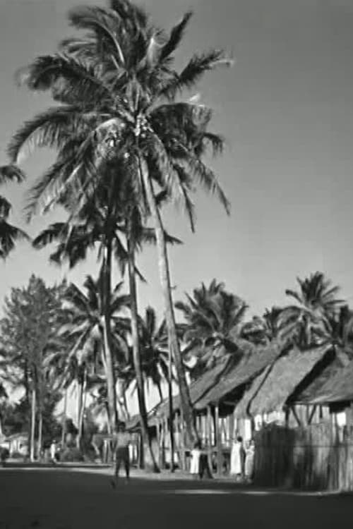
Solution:
M 222 150 L 222 139 L 209 130 L 212 113 L 194 99 L 184 102 L 179 96 L 203 73 L 230 61 L 222 51 L 213 50 L 195 54 L 181 71 L 174 68 L 174 54 L 190 18 L 191 13 L 186 13 L 165 32 L 128 0 L 110 0 L 107 8 L 73 8 L 68 20 L 79 30 L 78 36 L 64 39 L 56 53 L 37 57 L 18 73 L 21 85 L 49 92 L 56 106 L 25 122 L 8 146 L 9 168 L 16 170 L 33 147 L 56 151 L 54 164 L 30 190 L 27 217 L 59 205 L 66 211 L 66 221 L 44 230 L 35 246 L 56 241 L 52 260 L 67 260 L 70 266 L 85 259 L 90 249 L 97 250 L 101 361 L 112 429 L 117 421 L 112 267 L 117 264 L 123 276 L 127 270 L 132 358 L 145 439 L 136 286 L 141 274 L 136 256 L 145 243 L 156 244 L 169 354 L 177 372 L 186 431 L 193 439 L 196 430 L 167 254 L 167 243 L 177 240 L 166 233 L 162 212 L 164 205 L 178 202 L 194 229 L 191 191 L 196 187 L 215 193 L 229 212 L 227 197 L 203 162 L 210 149 L 215 154 Z M 18 174 L 23 177 L 22 171 Z

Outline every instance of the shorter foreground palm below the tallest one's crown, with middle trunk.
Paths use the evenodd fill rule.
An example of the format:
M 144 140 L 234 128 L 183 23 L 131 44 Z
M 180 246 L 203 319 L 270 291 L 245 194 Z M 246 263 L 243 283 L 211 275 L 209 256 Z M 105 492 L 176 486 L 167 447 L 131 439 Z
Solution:
M 68 260 L 70 266 L 73 267 L 78 260 L 85 258 L 89 248 L 94 248 L 95 244 L 99 244 L 98 255 L 100 255 L 102 245 L 109 242 L 112 246 L 114 257 L 119 263 L 121 274 L 124 274 L 127 263 L 131 298 L 133 364 L 138 381 L 138 402 L 143 422 L 143 437 L 148 442 L 148 446 L 150 446 L 143 377 L 139 360 L 140 346 L 136 330 L 138 326 L 136 274 L 140 279 L 143 279 L 143 277 L 136 268 L 135 255 L 144 243 L 155 243 L 155 235 L 152 229 L 143 226 L 138 209 L 131 200 L 131 191 L 128 191 L 126 183 L 124 186 L 121 185 L 124 183 L 124 179 L 114 179 L 112 182 L 109 167 L 106 169 L 107 174 L 104 175 L 106 181 L 102 178 L 101 185 L 97 188 L 95 196 L 87 200 L 80 212 L 76 214 L 75 223 L 71 220 L 66 223 L 52 224 L 52 226 L 40 233 L 40 236 L 35 239 L 33 244 L 36 248 L 42 248 L 42 246 L 52 243 L 54 240 L 59 241 L 56 251 L 51 256 L 51 260 L 58 263 Z M 114 197 L 114 201 L 112 197 Z M 162 198 L 162 195 L 160 195 L 158 200 L 162 200 Z M 108 204 L 108 207 L 106 204 Z M 66 209 L 70 210 L 70 202 L 66 204 Z M 180 243 L 177 238 L 173 238 L 167 233 L 165 236 L 169 243 Z M 126 249 L 124 238 L 126 239 Z M 121 380 L 123 378 L 121 377 Z M 152 451 L 151 446 L 150 451 Z M 155 466 L 155 470 L 157 470 L 157 466 Z

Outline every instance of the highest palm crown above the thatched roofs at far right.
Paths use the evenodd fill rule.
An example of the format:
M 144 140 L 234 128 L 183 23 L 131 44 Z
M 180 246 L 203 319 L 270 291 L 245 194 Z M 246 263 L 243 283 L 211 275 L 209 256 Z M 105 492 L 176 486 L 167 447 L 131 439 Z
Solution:
M 286 295 L 296 301 L 282 312 L 285 336 L 301 348 L 323 343 L 328 318 L 333 317 L 343 301 L 337 299 L 340 290 L 325 279 L 322 272 L 315 272 L 302 280 L 297 278 L 299 291 L 286 290 Z

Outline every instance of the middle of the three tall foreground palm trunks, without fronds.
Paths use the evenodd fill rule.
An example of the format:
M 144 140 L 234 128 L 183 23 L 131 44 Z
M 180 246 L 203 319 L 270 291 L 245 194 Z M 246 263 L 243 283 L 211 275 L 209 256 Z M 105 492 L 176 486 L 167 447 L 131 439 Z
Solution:
M 152 442 L 150 433 L 148 431 L 148 415 L 145 401 L 145 388 L 143 384 L 143 372 L 141 368 L 140 359 L 140 336 L 138 334 L 138 308 L 137 308 L 137 292 L 136 292 L 136 273 L 135 273 L 135 255 L 133 250 L 133 244 L 129 236 L 127 236 L 128 246 L 128 285 L 130 290 L 130 310 L 131 310 L 131 335 L 133 343 L 133 367 L 136 375 L 137 383 L 137 396 L 138 396 L 138 409 L 141 417 L 141 432 L 142 432 L 142 443 L 140 451 L 140 466 L 145 467 L 144 449 L 145 445 L 148 446 L 150 457 L 152 461 L 152 467 L 154 472 L 159 472 L 160 469 L 157 466 L 155 460 L 155 454 L 152 450 Z

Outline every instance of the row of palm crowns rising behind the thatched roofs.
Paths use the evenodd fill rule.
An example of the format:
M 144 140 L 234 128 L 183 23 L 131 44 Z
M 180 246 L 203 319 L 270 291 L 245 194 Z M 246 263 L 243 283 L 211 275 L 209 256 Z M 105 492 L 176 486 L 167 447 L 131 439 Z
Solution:
M 265 310 L 262 317 L 246 320 L 248 306 L 213 280 L 186 294 L 186 301 L 176 303 L 184 317 L 180 324 L 186 361 L 191 363 L 191 377 L 210 369 L 220 355 L 239 353 L 246 343 L 255 346 L 276 341 L 286 348 L 297 346 L 303 353 L 310 348 L 330 344 L 353 359 L 353 312 L 338 298 L 322 272 L 297 279 L 298 290 L 285 291 L 290 302 L 284 307 Z

